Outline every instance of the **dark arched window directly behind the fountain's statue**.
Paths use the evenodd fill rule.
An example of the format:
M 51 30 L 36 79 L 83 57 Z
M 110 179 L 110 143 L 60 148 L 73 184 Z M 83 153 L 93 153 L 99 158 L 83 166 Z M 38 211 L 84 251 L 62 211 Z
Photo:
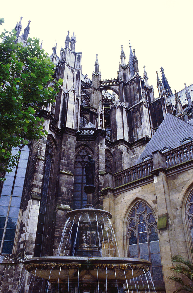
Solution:
M 90 153 L 86 149 L 81 149 L 75 157 L 73 193 L 74 209 L 80 209 L 86 205 L 86 193 L 83 188 L 86 185 L 84 167 L 88 161 L 88 155 L 90 155 Z

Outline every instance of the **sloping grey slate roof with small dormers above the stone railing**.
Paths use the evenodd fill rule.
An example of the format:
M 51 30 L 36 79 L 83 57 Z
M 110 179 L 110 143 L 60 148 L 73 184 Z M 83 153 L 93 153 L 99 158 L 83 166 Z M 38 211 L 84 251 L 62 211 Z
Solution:
M 143 162 L 143 158 L 152 155 L 153 151 L 179 147 L 180 142 L 188 137 L 193 139 L 193 125 L 168 113 L 135 164 Z

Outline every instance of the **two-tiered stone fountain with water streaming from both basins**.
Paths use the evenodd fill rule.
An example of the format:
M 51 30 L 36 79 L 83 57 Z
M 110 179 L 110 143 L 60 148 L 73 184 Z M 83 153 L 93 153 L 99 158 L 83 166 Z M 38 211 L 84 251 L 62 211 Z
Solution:
M 88 178 L 86 183 L 89 183 L 84 187 L 87 205 L 66 214 L 66 218 L 78 224 L 79 228 L 80 245 L 76 256 L 34 257 L 24 262 L 29 272 L 49 280 L 48 292 L 123 292 L 123 284 L 127 284 L 128 279 L 147 272 L 151 265 L 149 261 L 138 258 L 102 256 L 102 247 L 98 244 L 99 226 L 112 215 L 93 207 L 95 186 Z

